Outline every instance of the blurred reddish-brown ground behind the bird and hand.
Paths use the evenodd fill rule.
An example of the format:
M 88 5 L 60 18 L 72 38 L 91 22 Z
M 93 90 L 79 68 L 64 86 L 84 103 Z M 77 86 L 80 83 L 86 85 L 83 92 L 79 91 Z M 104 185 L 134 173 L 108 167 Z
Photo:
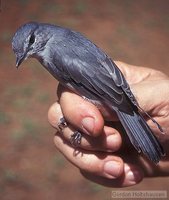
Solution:
M 169 75 L 167 0 L 2 0 L 0 13 L 0 199 L 111 199 L 112 188 L 85 180 L 53 145 L 47 110 L 56 81 L 36 61 L 19 71 L 11 37 L 27 21 L 83 32 L 114 59 Z M 44 82 L 45 80 L 45 82 Z M 168 178 L 125 190 L 168 190 Z M 124 190 L 124 188 L 122 189 Z

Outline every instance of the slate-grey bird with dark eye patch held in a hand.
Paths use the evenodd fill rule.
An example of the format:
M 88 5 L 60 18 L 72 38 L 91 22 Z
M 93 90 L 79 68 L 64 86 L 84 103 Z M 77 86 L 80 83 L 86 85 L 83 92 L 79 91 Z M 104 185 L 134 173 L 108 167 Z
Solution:
M 155 164 L 165 155 L 118 66 L 83 34 L 49 23 L 27 22 L 16 30 L 12 49 L 17 68 L 27 58 L 36 58 L 60 84 L 115 112 L 138 153 Z M 74 138 L 80 138 L 78 132 Z

